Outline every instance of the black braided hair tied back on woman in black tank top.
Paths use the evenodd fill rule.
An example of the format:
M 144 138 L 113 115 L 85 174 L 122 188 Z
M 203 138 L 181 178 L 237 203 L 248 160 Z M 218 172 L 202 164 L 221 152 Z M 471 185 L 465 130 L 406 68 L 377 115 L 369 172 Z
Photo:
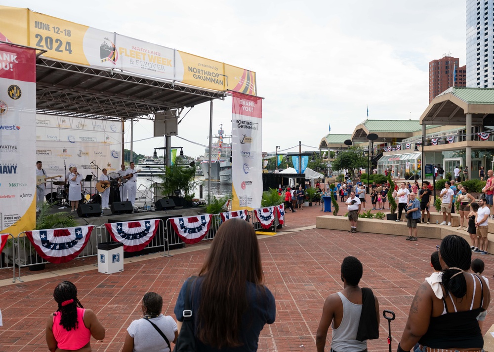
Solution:
M 443 270 L 443 286 L 448 294 L 451 291 L 457 298 L 466 295 L 465 275 L 460 270 L 469 270 L 472 261 L 472 250 L 465 239 L 456 235 L 448 235 L 441 242 L 441 258 L 448 266 Z M 461 273 L 459 275 L 455 275 Z

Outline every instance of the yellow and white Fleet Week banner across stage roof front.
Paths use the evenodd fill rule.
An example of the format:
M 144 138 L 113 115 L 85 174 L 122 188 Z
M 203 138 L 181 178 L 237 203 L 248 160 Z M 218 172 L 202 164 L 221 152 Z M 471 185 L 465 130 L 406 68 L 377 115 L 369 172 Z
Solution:
M 43 57 L 256 95 L 255 72 L 27 8 L 0 6 L 0 37 L 47 50 Z

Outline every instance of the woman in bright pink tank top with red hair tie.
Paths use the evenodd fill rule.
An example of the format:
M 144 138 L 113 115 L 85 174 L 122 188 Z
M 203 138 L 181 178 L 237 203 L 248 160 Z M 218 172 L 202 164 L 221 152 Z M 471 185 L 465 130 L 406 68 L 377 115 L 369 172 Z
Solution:
M 51 352 L 91 352 L 91 336 L 105 338 L 105 328 L 90 309 L 77 299 L 77 288 L 69 281 L 55 287 L 53 298 L 58 309 L 46 323 L 46 343 Z

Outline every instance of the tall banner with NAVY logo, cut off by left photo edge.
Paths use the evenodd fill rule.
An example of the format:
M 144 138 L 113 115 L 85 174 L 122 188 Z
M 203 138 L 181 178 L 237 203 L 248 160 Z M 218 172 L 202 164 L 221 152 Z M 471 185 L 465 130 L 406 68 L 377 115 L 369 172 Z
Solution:
M 0 233 L 36 225 L 35 120 L 35 50 L 0 44 Z

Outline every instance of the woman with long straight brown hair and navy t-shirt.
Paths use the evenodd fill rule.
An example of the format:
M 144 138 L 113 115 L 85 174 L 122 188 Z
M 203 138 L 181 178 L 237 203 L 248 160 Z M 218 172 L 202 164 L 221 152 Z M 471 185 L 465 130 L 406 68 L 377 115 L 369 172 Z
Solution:
M 259 245 L 252 225 L 224 222 L 196 279 L 183 284 L 175 305 L 180 331 L 184 300 L 191 299 L 196 351 L 257 351 L 264 324 L 275 321 L 275 300 L 263 285 Z M 190 298 L 187 282 L 194 280 Z M 179 335 L 180 339 L 180 335 Z

